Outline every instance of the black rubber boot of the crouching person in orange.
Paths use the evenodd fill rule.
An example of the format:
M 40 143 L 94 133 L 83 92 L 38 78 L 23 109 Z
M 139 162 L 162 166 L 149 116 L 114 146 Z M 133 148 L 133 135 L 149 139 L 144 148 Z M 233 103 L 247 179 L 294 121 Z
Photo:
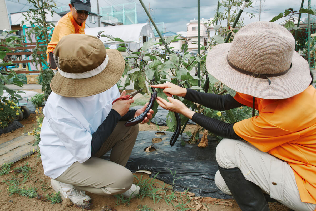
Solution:
M 242 211 L 270 211 L 261 188 L 246 180 L 240 169 L 218 169 Z

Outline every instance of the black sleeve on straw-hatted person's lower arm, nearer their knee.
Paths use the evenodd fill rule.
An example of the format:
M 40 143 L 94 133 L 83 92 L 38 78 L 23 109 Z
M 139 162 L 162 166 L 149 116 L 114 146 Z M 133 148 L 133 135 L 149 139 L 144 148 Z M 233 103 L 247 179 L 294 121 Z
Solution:
M 211 133 L 222 136 L 228 139 L 241 139 L 234 131 L 234 123 L 229 124 L 212 117 L 205 116 L 200 113 L 195 113 L 192 116 L 192 121 L 196 122 L 198 125 L 204 127 Z

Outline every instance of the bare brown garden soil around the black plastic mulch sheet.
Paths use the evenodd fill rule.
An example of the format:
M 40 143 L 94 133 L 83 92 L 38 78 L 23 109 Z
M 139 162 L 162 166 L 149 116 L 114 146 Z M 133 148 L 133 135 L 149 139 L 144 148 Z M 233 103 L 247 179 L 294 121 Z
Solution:
M 31 114 L 31 116 L 21 121 L 22 125 L 24 127 L 19 128 L 13 132 L 2 134 L 0 136 L 0 144 L 4 143 L 6 141 L 12 140 L 13 138 L 19 137 L 24 133 L 31 132 L 34 127 L 36 127 L 36 114 Z M 193 132 L 194 125 L 188 125 L 186 127 L 187 130 L 191 130 Z M 167 126 L 161 126 L 159 127 L 159 130 L 166 130 Z M 139 125 L 139 130 L 157 130 L 157 126 L 155 124 L 143 124 Z M 15 164 L 11 166 L 11 169 L 14 169 L 16 167 L 21 167 L 23 165 L 27 164 L 29 167 L 31 167 L 32 171 L 29 174 L 29 177 L 26 178 L 26 182 L 24 183 L 26 187 L 36 187 L 37 192 L 39 194 L 42 194 L 46 196 L 47 194 L 53 194 L 54 191 L 50 186 L 50 178 L 46 177 L 44 175 L 44 171 L 42 168 L 41 160 L 38 158 L 37 152 L 33 155 L 24 158 Z M 33 210 L 40 210 L 40 211 L 77 211 L 81 210 L 81 208 L 77 208 L 74 205 L 65 205 L 65 204 L 51 204 L 51 202 L 46 201 L 45 199 L 36 199 L 36 198 L 28 198 L 25 196 L 21 196 L 18 194 L 14 194 L 12 196 L 9 196 L 9 193 L 7 191 L 7 188 L 9 185 L 9 180 L 12 179 L 13 176 L 20 177 L 20 180 L 23 180 L 24 177 L 20 176 L 21 174 L 16 175 L 15 172 L 11 172 L 7 175 L 0 176 L 0 210 L 5 211 L 33 211 Z M 138 180 L 145 180 L 149 178 L 149 175 L 146 173 L 135 173 L 134 182 L 136 183 Z M 138 180 L 137 180 L 137 178 Z M 171 194 L 171 186 L 168 184 L 165 184 L 159 180 L 154 180 L 155 187 L 161 188 L 164 187 L 167 191 L 167 195 Z M 117 198 L 115 196 L 100 196 L 95 195 L 92 193 L 88 193 L 91 197 L 91 206 L 90 210 L 93 211 L 136 211 L 138 210 L 138 205 L 147 205 L 154 210 L 158 211 L 175 211 L 175 210 L 181 210 L 179 209 L 179 204 L 186 204 L 184 207 L 188 208 L 190 207 L 192 211 L 202 211 L 202 210 L 214 210 L 214 211 L 239 211 L 240 208 L 238 207 L 237 203 L 234 200 L 222 200 L 222 199 L 214 199 L 210 197 L 206 198 L 200 198 L 195 197 L 194 195 L 188 195 L 188 197 L 185 197 L 184 195 L 181 195 L 180 193 L 177 193 L 177 199 L 178 201 L 172 201 L 174 206 L 169 202 L 167 204 L 163 199 L 159 200 L 157 202 L 157 199 L 155 201 L 152 198 L 144 197 L 142 198 L 134 198 L 132 199 L 128 204 L 120 204 L 117 205 Z M 182 196 L 182 197 L 180 197 Z M 161 195 L 163 197 L 163 195 Z M 46 198 L 46 197 L 44 197 Z M 182 201 L 182 199 L 184 201 Z M 175 207 L 177 206 L 178 207 Z M 106 206 L 110 206 L 111 209 L 108 209 Z M 285 206 L 279 204 L 279 203 L 269 203 L 270 210 L 271 211 L 289 211 L 290 209 L 286 208 Z

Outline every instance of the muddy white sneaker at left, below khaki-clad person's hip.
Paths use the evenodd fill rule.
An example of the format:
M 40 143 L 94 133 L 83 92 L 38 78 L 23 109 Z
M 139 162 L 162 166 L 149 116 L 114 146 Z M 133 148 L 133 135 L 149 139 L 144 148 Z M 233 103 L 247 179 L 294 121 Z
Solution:
M 84 201 L 89 201 L 91 198 L 86 195 L 85 191 L 78 191 L 73 185 L 60 183 L 57 180 L 51 179 L 51 186 L 56 193 L 59 192 L 61 198 L 69 198 L 74 204 L 85 204 Z

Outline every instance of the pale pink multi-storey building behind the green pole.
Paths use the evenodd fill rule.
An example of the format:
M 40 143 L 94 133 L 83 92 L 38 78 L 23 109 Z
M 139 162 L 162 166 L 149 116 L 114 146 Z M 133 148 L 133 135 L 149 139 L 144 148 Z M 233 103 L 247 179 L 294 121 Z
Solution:
M 187 23 L 187 39 L 188 41 L 188 51 L 192 51 L 193 53 L 197 53 L 197 41 L 200 39 L 200 44 L 202 46 L 207 46 L 207 42 L 209 41 L 209 38 L 212 37 L 215 34 L 215 30 L 213 28 L 213 25 L 210 24 L 211 19 L 204 19 L 202 18 L 200 20 L 200 37 L 197 37 L 197 20 L 193 19 L 190 20 L 189 23 Z M 213 32 L 214 31 L 214 32 Z

